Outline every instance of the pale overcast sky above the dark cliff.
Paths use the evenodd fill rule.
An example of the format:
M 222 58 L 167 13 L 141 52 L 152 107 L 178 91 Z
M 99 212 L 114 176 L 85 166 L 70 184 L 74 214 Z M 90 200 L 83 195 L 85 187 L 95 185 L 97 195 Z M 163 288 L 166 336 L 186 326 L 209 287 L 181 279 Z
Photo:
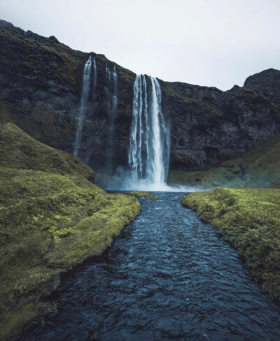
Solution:
M 280 68 L 280 0 L 0 0 L 0 13 L 162 80 L 226 90 Z

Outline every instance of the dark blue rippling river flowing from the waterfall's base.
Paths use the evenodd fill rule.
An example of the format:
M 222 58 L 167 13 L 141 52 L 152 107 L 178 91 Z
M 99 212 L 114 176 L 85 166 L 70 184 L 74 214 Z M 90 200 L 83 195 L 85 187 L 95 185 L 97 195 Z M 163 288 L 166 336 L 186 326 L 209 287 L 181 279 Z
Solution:
M 280 340 L 279 307 L 235 249 L 181 206 L 182 194 L 157 195 L 140 199 L 139 217 L 23 340 Z

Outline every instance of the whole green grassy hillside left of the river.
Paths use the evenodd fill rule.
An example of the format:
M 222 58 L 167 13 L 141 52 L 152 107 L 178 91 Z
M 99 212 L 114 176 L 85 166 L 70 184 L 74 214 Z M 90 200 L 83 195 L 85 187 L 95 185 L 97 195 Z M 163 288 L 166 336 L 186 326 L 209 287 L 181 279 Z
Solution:
M 92 170 L 0 124 L 0 339 L 50 309 L 41 298 L 59 273 L 100 254 L 139 212 L 132 196 L 106 194 Z

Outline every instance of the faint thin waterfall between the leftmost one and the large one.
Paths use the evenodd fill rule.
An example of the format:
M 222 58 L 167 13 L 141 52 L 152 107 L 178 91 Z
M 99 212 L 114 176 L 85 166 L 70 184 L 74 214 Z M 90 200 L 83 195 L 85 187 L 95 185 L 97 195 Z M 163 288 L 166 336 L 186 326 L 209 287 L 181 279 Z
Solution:
M 116 66 L 113 66 L 113 72 L 110 71 L 108 64 L 106 63 L 106 95 L 110 99 L 109 107 L 109 129 L 107 136 L 107 150 L 106 150 L 106 175 L 111 177 L 113 175 L 113 143 L 115 134 L 115 119 L 117 116 L 118 109 L 118 73 L 116 71 Z M 112 95 L 111 95 L 112 94 Z M 110 182 L 110 181 L 109 181 Z

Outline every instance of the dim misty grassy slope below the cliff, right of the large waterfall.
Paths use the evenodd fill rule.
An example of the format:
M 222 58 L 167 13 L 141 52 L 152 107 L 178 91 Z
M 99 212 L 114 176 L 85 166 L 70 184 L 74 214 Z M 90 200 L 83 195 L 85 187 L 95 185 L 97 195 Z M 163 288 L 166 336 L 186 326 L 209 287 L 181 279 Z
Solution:
M 202 187 L 280 188 L 280 134 L 242 157 L 214 168 L 195 172 L 172 170 L 169 183 L 199 184 Z

